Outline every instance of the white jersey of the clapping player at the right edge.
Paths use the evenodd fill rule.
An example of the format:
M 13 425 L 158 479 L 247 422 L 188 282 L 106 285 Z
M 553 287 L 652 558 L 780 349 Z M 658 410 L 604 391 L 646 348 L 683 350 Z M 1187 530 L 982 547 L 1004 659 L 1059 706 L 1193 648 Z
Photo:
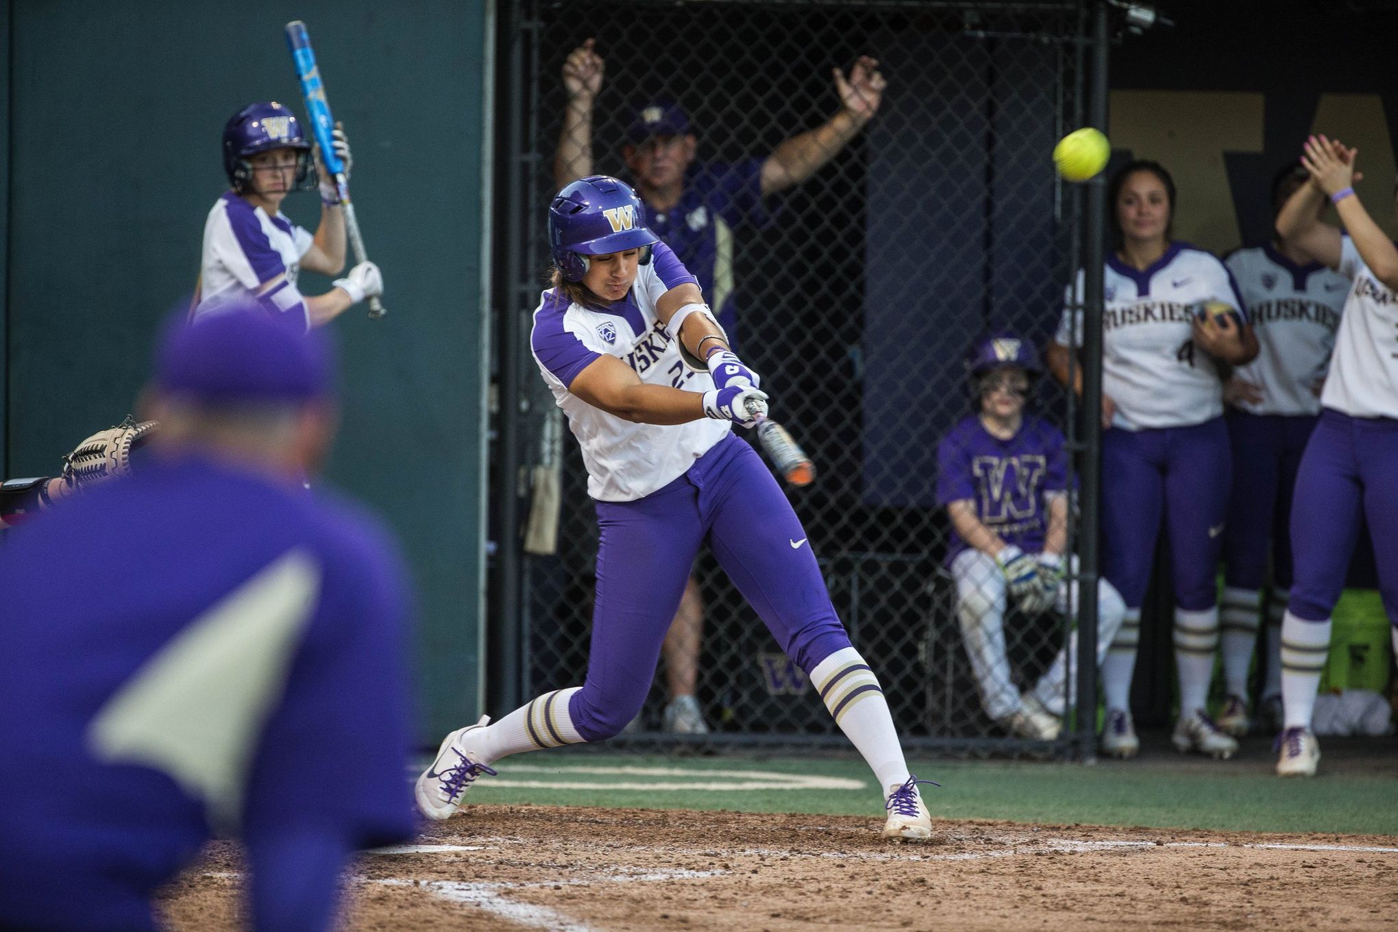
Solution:
M 1398 418 L 1398 295 L 1374 278 L 1349 236 L 1336 271 L 1353 284 L 1320 402 L 1352 418 Z

